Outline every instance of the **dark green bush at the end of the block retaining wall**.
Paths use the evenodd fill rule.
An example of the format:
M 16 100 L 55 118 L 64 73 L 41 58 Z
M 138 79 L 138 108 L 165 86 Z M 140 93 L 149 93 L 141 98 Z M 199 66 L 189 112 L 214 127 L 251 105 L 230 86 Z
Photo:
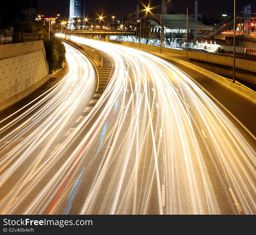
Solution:
M 49 73 L 53 73 L 57 69 L 62 68 L 65 61 L 65 46 L 61 40 L 52 35 L 50 40 L 43 39 L 45 45 L 46 58 L 49 64 Z

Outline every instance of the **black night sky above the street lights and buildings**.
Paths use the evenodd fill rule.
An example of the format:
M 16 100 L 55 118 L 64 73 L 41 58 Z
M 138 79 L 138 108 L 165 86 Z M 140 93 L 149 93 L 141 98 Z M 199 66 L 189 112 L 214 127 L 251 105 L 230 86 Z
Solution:
M 147 5 L 148 1 L 143 1 Z M 150 6 L 157 6 L 161 4 L 161 0 L 151 1 Z M 189 14 L 194 13 L 194 0 L 171 0 L 167 5 L 167 12 L 174 11 L 176 14 L 186 14 L 186 9 L 184 6 L 188 6 Z M 256 12 L 255 0 L 237 0 L 236 1 L 236 12 L 242 10 L 244 6 L 251 4 L 251 12 Z M 46 17 L 52 14 L 60 13 L 63 18 L 68 18 L 69 16 L 69 0 L 38 0 L 38 13 L 43 14 Z M 95 17 L 95 13 L 101 15 L 103 11 L 104 15 L 118 15 L 119 18 L 127 15 L 128 12 L 136 11 L 137 0 L 87 0 L 86 1 L 86 11 L 88 12 L 88 17 Z M 143 7 L 140 4 L 140 9 Z M 233 15 L 233 1 L 228 0 L 198 0 L 198 14 L 202 16 L 215 16 L 216 14 L 222 14 L 227 12 L 227 14 Z M 158 8 L 161 11 L 161 6 Z M 155 12 L 157 13 L 157 12 Z

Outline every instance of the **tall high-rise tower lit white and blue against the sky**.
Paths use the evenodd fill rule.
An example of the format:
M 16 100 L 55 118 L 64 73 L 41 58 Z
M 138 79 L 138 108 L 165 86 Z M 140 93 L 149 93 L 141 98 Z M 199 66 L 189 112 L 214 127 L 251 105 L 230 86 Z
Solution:
M 80 28 L 81 25 L 84 25 L 84 18 L 85 0 L 70 0 L 68 28 L 74 29 L 74 26 Z

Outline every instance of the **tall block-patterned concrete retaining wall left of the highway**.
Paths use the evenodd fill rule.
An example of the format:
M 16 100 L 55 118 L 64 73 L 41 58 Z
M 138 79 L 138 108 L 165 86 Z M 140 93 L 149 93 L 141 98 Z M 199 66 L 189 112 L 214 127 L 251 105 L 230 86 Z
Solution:
M 48 71 L 43 41 L 0 45 L 0 110 L 40 87 Z

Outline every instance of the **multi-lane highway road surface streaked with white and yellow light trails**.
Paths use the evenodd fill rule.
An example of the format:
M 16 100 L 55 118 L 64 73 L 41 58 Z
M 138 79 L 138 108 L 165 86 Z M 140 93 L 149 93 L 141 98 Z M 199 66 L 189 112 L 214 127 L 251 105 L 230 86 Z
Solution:
M 66 76 L 0 129 L 1 214 L 256 214 L 256 140 L 232 114 L 165 60 L 72 40 L 109 56 L 108 85 L 66 45 Z

